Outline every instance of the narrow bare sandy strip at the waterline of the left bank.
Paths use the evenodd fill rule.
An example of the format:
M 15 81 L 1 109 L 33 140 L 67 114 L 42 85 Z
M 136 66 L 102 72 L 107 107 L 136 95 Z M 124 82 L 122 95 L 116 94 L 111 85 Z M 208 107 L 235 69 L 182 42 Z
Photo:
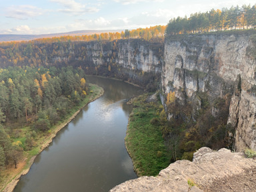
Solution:
M 89 102 L 87 104 L 89 104 L 90 102 L 93 102 L 95 100 L 97 100 L 97 98 L 103 96 L 104 94 L 104 90 L 103 88 L 101 88 L 99 95 L 97 95 L 95 98 L 92 98 L 92 100 L 89 100 Z M 77 116 L 77 114 L 79 114 L 79 112 L 81 112 L 81 110 L 87 106 L 87 104 L 85 104 L 84 106 L 82 106 L 79 110 L 77 110 L 77 112 L 75 112 L 75 114 L 73 114 L 68 120 L 66 120 L 65 122 L 63 122 L 62 124 L 60 124 L 59 126 L 57 126 L 57 128 L 55 130 L 53 130 L 53 133 L 51 133 L 50 136 L 47 136 L 46 142 L 44 144 L 41 145 L 40 147 L 40 151 L 37 155 L 39 155 L 46 147 L 49 146 L 49 144 L 51 144 L 51 142 L 53 142 L 53 138 L 56 137 L 57 133 L 63 129 L 65 126 L 67 126 L 67 124 L 69 124 L 69 122 L 71 122 L 75 116 Z M 13 189 L 15 188 L 15 186 L 17 185 L 17 183 L 19 182 L 19 179 L 21 177 L 21 175 L 26 175 L 29 172 L 29 169 L 31 167 L 31 165 L 33 164 L 35 157 L 37 157 L 37 155 L 34 155 L 33 157 L 31 157 L 31 159 L 29 160 L 29 163 L 25 163 L 24 167 L 28 167 L 27 169 L 24 169 L 23 167 L 23 171 L 21 171 L 18 175 L 15 176 L 14 179 L 11 180 L 11 182 L 9 182 L 2 190 L 2 192 L 12 192 Z M 26 159 L 25 159 L 26 161 Z

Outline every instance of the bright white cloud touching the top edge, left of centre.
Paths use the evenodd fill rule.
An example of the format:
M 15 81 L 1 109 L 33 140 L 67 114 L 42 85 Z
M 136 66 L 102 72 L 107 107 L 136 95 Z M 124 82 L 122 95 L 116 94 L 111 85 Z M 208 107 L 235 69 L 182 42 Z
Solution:
M 87 7 L 81 3 L 77 3 L 74 0 L 51 0 L 52 2 L 62 5 L 64 9 L 59 9 L 58 11 L 63 13 L 70 13 L 71 15 L 81 15 L 81 13 L 95 13 L 99 9 L 97 7 Z

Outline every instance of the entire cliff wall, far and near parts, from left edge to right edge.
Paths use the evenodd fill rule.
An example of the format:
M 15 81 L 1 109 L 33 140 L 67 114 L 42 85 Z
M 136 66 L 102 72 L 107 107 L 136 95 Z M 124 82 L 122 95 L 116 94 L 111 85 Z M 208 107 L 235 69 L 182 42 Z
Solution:
M 204 113 L 207 108 L 213 118 L 222 118 L 221 124 L 228 122 L 236 130 L 235 144 L 241 151 L 245 147 L 256 149 L 255 39 L 255 31 L 229 31 L 167 37 L 165 43 L 121 39 L 1 45 L 0 65 L 73 65 L 83 68 L 87 74 L 116 77 L 152 91 L 159 88 L 161 79 L 163 104 L 167 94 L 175 92 L 179 108 L 189 106 L 180 116 L 172 106 L 169 118 L 198 122 L 200 110 Z M 186 117 L 189 110 L 191 117 Z M 211 126 L 203 128 L 205 124 L 208 123 L 201 123 L 201 132 L 210 130 Z M 229 135 L 232 137 L 234 133 Z

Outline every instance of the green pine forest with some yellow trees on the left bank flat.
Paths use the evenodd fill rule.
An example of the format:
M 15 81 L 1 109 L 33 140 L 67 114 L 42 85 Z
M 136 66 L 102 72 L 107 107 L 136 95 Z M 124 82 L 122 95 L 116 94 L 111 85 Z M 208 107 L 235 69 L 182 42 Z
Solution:
M 80 68 L 1 68 L 0 170 L 16 167 L 41 136 L 50 134 L 92 92 Z

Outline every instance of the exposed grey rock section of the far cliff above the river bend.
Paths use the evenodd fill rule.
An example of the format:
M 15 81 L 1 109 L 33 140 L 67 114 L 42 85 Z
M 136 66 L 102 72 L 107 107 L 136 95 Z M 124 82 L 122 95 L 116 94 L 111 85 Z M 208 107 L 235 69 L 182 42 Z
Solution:
M 88 74 L 113 76 L 141 86 L 153 84 L 161 76 L 163 43 L 139 39 L 89 42 L 81 49 L 85 56 L 77 64 Z

